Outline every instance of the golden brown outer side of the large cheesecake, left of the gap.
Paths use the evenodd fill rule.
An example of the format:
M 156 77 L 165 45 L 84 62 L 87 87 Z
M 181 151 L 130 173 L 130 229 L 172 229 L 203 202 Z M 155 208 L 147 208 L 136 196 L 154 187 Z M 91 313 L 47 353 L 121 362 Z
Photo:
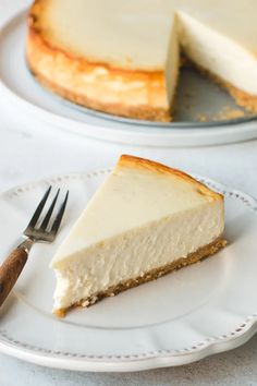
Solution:
M 39 83 L 63 98 L 94 110 L 149 121 L 171 120 L 163 72 L 112 68 L 52 46 L 38 22 L 42 5 L 44 2 L 37 0 L 30 8 L 26 40 L 27 64 Z M 94 87 L 91 81 L 86 81 L 87 75 L 95 77 Z M 124 89 L 112 91 L 112 82 L 120 82 Z M 133 84 L 134 89 L 126 87 Z M 138 95 L 140 102 L 134 104 Z

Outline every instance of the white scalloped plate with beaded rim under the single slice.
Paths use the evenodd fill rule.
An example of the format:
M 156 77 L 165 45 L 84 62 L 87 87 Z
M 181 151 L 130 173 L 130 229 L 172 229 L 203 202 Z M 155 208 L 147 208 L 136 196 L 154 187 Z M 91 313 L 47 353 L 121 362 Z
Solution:
M 3 257 L 49 183 L 71 192 L 57 242 L 34 246 L 15 291 L 0 310 L 0 351 L 69 370 L 138 371 L 189 363 L 249 339 L 257 329 L 257 203 L 201 178 L 225 196 L 229 245 L 223 251 L 64 319 L 52 316 L 49 262 L 108 172 L 60 176 L 0 195 Z

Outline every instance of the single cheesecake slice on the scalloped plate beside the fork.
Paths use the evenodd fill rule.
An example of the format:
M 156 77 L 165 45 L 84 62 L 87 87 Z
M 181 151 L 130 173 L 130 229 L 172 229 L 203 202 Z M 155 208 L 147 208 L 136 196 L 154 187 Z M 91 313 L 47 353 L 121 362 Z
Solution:
M 186 173 L 133 156 L 118 165 L 51 262 L 53 312 L 87 306 L 224 246 L 223 196 Z

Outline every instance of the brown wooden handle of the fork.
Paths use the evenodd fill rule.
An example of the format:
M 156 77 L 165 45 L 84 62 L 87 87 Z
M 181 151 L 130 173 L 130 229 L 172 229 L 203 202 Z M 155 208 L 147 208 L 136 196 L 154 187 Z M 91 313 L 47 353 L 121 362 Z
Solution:
M 11 292 L 27 261 L 27 251 L 14 250 L 0 266 L 0 306 Z

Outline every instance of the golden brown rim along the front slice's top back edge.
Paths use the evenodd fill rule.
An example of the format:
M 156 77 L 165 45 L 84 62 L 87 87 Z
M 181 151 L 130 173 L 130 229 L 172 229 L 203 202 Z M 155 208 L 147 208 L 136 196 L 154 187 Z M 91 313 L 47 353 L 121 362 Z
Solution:
M 135 169 L 145 169 L 150 172 L 155 173 L 160 173 L 160 174 L 168 174 L 168 176 L 175 176 L 178 178 L 181 178 L 185 181 L 188 181 L 191 183 L 194 183 L 197 186 L 198 193 L 207 196 L 211 196 L 213 200 L 223 200 L 223 195 L 217 192 L 213 192 L 210 190 L 208 186 L 206 186 L 204 183 L 195 180 L 193 177 L 189 174 L 185 173 L 184 171 L 181 171 L 179 169 L 170 168 L 169 166 L 166 166 L 163 164 L 150 160 L 150 159 L 145 159 L 132 155 L 126 155 L 123 154 L 119 161 L 118 165 L 114 169 L 119 171 L 120 168 L 122 167 L 131 167 Z

